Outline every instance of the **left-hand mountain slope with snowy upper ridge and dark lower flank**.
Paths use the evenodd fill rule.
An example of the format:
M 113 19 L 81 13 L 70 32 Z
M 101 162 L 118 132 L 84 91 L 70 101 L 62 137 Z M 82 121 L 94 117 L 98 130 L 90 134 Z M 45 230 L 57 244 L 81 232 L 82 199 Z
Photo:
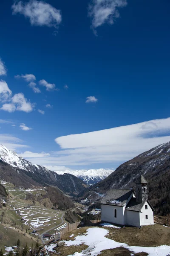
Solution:
M 77 195 L 88 187 L 74 175 L 59 175 L 44 166 L 32 164 L 3 145 L 0 145 L 0 160 L 0 178 L 15 183 L 17 186 L 52 185 L 69 195 Z

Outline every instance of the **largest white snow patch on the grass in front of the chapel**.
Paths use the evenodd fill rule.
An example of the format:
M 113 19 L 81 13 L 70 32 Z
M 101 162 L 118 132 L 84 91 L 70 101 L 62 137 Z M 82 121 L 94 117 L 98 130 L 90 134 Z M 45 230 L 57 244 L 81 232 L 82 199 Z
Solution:
M 133 253 L 146 252 L 149 256 L 165 256 L 170 253 L 170 246 L 161 245 L 158 247 L 141 247 L 141 246 L 128 246 L 125 243 L 119 243 L 114 240 L 108 239 L 105 236 L 109 233 L 108 230 L 93 227 L 87 230 L 87 233 L 77 236 L 74 241 L 65 241 L 66 246 L 80 245 L 82 243 L 88 245 L 86 250 L 82 250 L 81 253 L 74 253 L 69 256 L 96 256 L 101 253 L 102 250 L 114 249 L 116 247 L 125 247 Z

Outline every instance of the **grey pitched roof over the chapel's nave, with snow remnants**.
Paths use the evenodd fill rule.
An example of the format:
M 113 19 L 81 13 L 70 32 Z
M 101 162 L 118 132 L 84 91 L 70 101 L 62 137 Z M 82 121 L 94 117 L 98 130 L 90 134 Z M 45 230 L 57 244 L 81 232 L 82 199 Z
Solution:
M 110 189 L 101 204 L 124 206 L 132 192 L 132 189 Z

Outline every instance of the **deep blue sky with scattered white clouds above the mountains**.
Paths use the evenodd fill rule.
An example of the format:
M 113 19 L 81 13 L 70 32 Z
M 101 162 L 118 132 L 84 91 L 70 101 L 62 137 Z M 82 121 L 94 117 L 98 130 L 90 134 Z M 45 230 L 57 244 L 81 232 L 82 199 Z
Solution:
M 0 143 L 50 169 L 97 169 L 169 141 L 169 10 L 169 0 L 1 1 Z

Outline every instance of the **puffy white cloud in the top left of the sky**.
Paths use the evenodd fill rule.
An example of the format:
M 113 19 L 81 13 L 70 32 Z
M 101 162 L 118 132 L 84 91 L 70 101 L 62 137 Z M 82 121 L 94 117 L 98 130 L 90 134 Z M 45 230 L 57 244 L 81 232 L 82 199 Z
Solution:
M 15 2 L 12 5 L 13 14 L 23 14 L 28 17 L 31 25 L 57 28 L 62 21 L 61 11 L 43 1 L 30 0 L 26 3 Z

